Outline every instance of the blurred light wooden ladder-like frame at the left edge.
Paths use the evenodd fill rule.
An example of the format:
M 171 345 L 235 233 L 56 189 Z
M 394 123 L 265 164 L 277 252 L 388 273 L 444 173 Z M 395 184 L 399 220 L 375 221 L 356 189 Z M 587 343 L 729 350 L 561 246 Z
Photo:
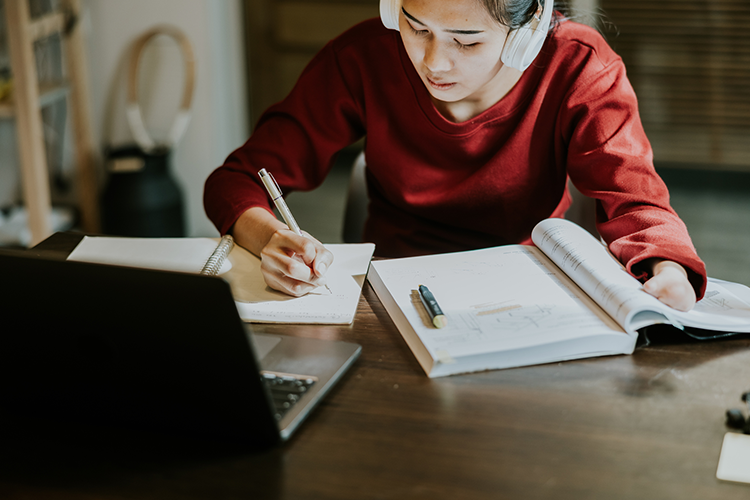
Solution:
M 0 0 L 2 1 L 2 0 Z M 88 98 L 88 74 L 81 33 L 80 0 L 61 0 L 56 12 L 31 19 L 28 0 L 4 0 L 13 74 L 13 104 L 0 116 L 14 116 L 18 136 L 23 198 L 31 245 L 52 234 L 51 196 L 41 110 L 45 102 L 67 96 L 73 125 L 76 182 L 81 228 L 98 232 L 99 200 Z M 59 33 L 64 46 L 65 82 L 39 82 L 34 42 Z

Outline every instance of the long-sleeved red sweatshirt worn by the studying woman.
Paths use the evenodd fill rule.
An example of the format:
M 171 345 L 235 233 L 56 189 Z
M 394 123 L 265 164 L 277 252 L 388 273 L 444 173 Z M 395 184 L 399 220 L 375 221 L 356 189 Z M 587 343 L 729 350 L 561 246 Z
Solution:
M 377 255 L 528 244 L 537 222 L 564 216 L 570 176 L 597 199 L 599 233 L 630 272 L 643 278 L 644 259 L 673 260 L 703 295 L 705 266 L 654 170 L 625 67 L 591 28 L 563 22 L 505 97 L 453 123 L 399 33 L 365 21 L 328 43 L 209 176 L 206 213 L 224 234 L 248 208 L 270 210 L 259 169 L 284 193 L 311 190 L 365 134 L 364 237 Z

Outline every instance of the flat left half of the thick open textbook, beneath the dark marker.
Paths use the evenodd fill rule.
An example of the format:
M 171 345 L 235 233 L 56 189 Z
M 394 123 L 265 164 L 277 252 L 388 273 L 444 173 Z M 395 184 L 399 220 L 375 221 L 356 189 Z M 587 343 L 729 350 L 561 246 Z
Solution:
M 439 375 L 630 353 L 635 346 L 633 338 L 533 246 L 373 261 L 371 266 L 370 282 L 430 376 L 435 376 L 433 367 L 420 359 L 424 356 L 409 338 L 411 332 L 434 364 L 443 365 Z M 444 328 L 432 326 L 416 293 L 419 285 L 435 295 L 448 319 Z M 594 337 L 598 340 L 589 342 Z M 526 358 L 493 359 L 493 353 L 524 350 Z M 471 361 L 462 365 L 462 359 L 483 355 L 488 355 L 484 366 Z

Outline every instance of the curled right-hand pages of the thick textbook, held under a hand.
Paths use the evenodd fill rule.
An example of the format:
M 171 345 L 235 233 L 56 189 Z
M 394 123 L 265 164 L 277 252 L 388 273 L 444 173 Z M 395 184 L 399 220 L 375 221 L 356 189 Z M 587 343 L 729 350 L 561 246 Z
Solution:
M 730 291 L 748 297 L 744 285 L 709 278 L 705 297 L 685 313 L 644 292 L 601 242 L 570 221 L 544 220 L 534 228 L 532 240 L 630 333 L 658 323 L 750 331 L 750 303 Z

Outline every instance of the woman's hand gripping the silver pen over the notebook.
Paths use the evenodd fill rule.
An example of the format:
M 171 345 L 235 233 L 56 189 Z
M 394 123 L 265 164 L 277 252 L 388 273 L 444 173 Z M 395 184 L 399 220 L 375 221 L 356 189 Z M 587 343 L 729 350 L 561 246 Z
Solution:
M 299 236 L 262 207 L 243 213 L 232 227 L 238 245 L 261 258 L 266 284 L 299 297 L 325 284 L 325 273 L 333 254 L 305 233 Z

